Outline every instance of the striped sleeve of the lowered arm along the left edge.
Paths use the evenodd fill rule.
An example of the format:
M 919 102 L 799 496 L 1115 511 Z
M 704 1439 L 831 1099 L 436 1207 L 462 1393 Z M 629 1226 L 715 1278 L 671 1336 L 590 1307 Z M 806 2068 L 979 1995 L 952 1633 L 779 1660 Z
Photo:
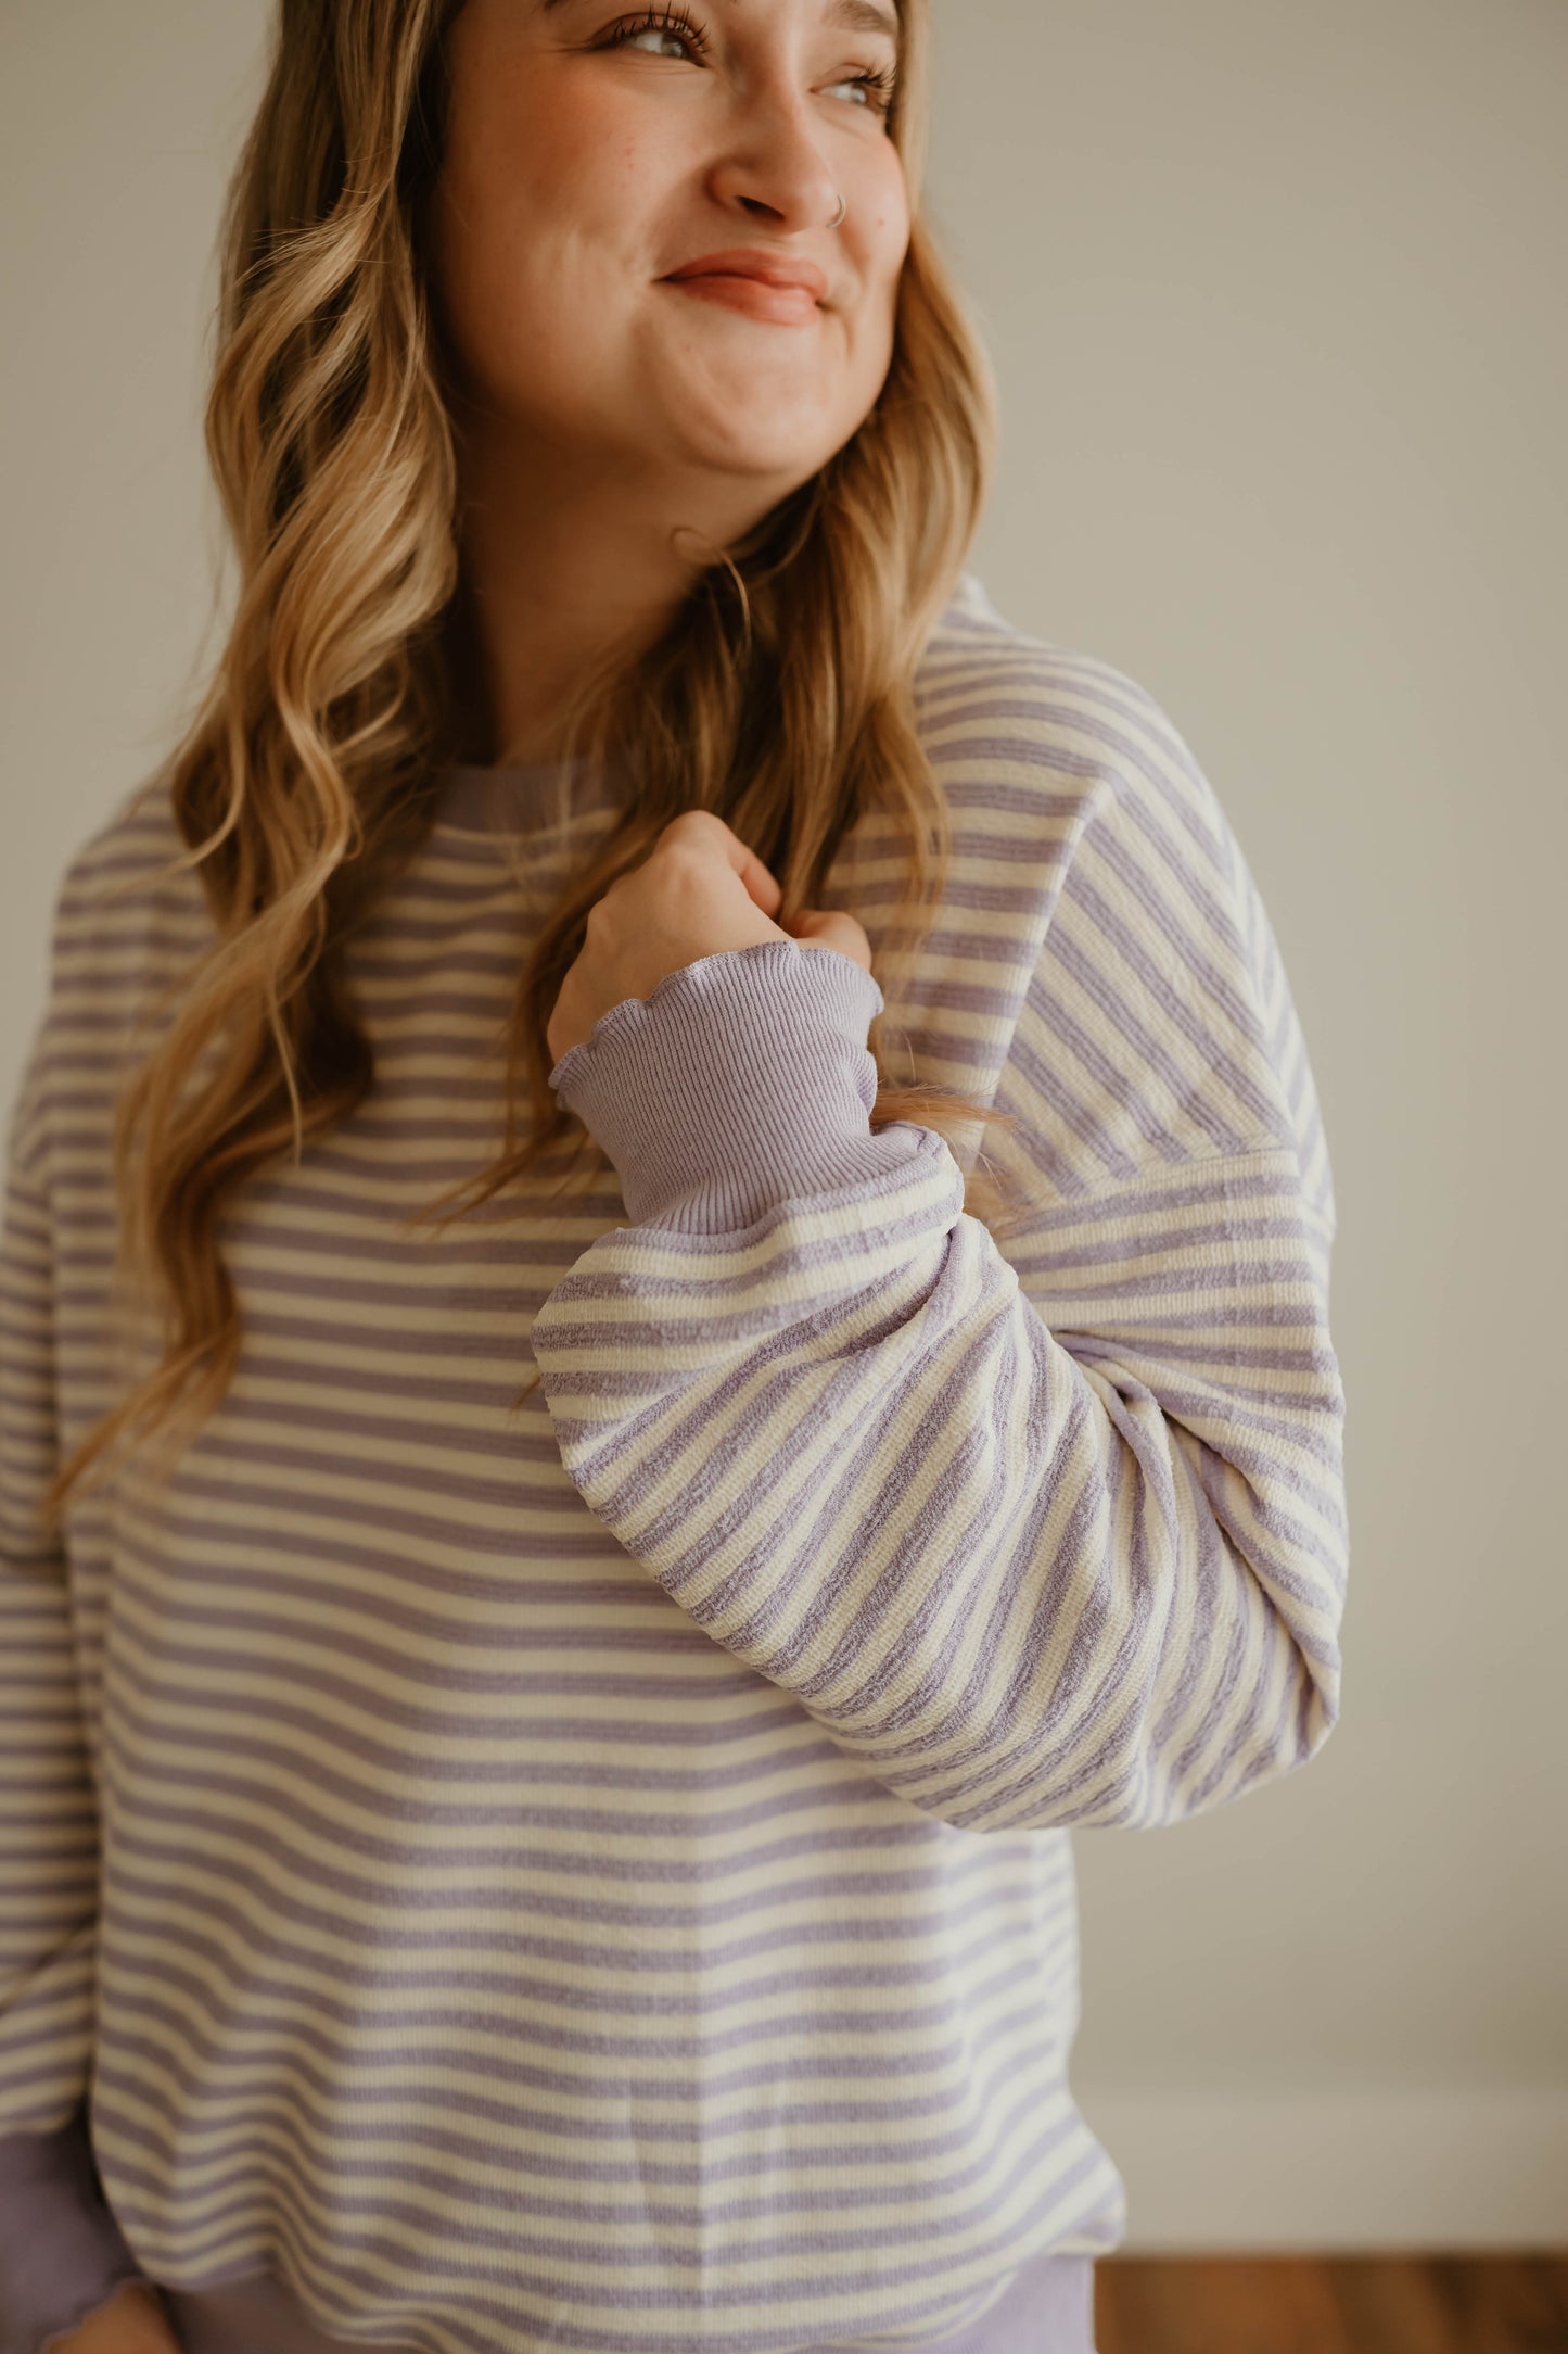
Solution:
M 0 2354 L 38 2354 L 141 2279 L 85 2119 L 99 1822 L 54 1471 L 54 1252 L 40 1029 L 7 1139 L 0 1243 Z

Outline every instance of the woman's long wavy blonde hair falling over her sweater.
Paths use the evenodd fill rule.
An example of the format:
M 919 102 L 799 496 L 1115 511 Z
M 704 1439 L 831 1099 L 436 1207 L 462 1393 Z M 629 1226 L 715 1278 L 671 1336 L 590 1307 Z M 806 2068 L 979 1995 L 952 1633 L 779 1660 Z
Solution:
M 89 1467 L 103 1476 L 120 1445 L 153 1434 L 179 1445 L 221 1403 L 242 1337 L 221 1210 L 252 1172 L 299 1161 L 374 1080 L 343 946 L 433 824 L 435 772 L 458 756 L 473 678 L 425 266 L 458 7 L 282 0 L 228 188 L 205 433 L 237 603 L 195 718 L 158 772 L 186 843 L 169 871 L 195 869 L 214 937 L 158 1010 L 113 1144 L 113 1292 L 150 1302 L 162 1339 L 61 1464 L 49 1523 Z M 860 812 L 882 805 L 907 847 L 879 951 L 889 996 L 889 967 L 907 970 L 929 932 L 952 836 L 912 685 L 973 541 L 997 414 L 990 363 L 919 212 L 929 0 L 900 0 L 900 24 L 891 137 L 912 240 L 886 384 L 813 480 L 698 570 L 658 645 L 583 680 L 564 758 L 637 786 L 545 911 L 508 1024 L 503 1149 L 421 1212 L 437 1224 L 536 1168 L 559 1165 L 564 1182 L 604 1168 L 548 1088 L 545 1022 L 588 909 L 679 810 L 733 826 L 778 876 L 788 927 L 818 904 Z M 1011 1125 L 950 1088 L 898 1083 L 882 1017 L 867 1045 L 872 1130 Z M 964 1205 L 992 1224 L 1009 1212 L 980 1151 Z

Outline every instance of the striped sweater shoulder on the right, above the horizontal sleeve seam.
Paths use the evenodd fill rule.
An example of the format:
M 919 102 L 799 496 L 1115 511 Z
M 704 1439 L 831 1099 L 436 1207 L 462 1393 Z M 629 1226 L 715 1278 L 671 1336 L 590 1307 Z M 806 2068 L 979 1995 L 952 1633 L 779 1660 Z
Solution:
M 1009 803 L 1051 845 L 1004 1085 L 1039 1201 L 1295 1153 L 1326 1248 L 1333 1177 L 1291 984 L 1178 723 L 1117 664 L 1013 629 L 973 577 L 929 640 L 919 694 L 922 739 L 954 798 Z

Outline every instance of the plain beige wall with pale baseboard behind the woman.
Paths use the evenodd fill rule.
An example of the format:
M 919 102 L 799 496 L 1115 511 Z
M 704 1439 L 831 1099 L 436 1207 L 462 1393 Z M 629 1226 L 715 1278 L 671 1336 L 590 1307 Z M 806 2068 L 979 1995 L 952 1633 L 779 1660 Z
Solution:
M 266 26 L 0 24 L 7 1099 L 63 862 L 219 645 L 212 233 Z M 1004 398 L 976 570 L 1187 734 L 1340 1198 L 1345 1718 L 1079 1836 L 1074 2086 L 1128 2248 L 1563 2243 L 1568 7 L 938 0 L 938 56 Z

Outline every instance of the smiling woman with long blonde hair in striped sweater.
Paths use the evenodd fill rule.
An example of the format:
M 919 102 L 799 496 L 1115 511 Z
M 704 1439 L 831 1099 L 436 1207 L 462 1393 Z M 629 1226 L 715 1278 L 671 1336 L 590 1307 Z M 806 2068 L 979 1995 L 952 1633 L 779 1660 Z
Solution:
M 964 572 L 924 106 L 924 0 L 284 0 L 12 1123 L 0 2354 L 1091 2347 L 1070 1831 L 1335 1721 L 1333 1191 Z

